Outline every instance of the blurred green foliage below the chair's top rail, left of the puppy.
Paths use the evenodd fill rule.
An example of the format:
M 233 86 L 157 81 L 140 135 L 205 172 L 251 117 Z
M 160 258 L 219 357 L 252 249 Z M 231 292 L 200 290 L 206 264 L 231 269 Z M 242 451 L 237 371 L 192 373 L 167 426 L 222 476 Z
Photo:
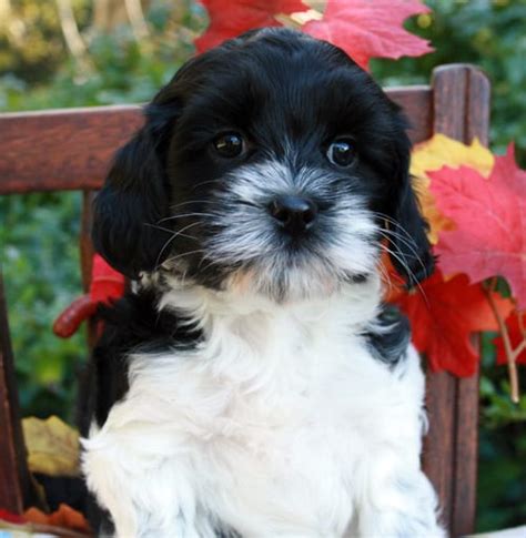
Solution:
M 55 316 L 81 288 L 78 244 L 80 195 L 0 197 L 11 336 L 24 413 L 71 417 L 82 334 L 58 341 Z

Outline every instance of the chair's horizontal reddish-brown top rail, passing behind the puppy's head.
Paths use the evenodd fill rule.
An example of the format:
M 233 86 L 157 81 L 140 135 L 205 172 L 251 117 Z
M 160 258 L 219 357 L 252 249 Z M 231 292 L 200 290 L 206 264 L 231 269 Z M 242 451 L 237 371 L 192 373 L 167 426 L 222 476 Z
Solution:
M 431 134 L 431 90 L 387 90 L 412 121 L 413 142 Z M 142 125 L 136 105 L 0 114 L 0 194 L 97 190 L 115 150 Z

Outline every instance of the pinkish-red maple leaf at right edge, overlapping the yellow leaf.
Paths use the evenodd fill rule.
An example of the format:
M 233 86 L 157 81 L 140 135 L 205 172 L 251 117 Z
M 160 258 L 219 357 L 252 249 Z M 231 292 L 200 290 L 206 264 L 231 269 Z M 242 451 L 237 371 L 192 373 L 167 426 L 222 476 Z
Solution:
M 526 306 L 526 172 L 515 164 L 513 145 L 495 159 L 488 179 L 468 168 L 428 175 L 438 210 L 456 224 L 439 234 L 442 271 L 472 282 L 504 276 Z

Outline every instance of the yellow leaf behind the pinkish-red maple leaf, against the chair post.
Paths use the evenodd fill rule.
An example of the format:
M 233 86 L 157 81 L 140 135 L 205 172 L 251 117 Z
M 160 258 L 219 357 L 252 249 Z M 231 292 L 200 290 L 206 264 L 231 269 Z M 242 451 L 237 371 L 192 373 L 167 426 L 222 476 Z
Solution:
M 431 179 L 427 172 L 441 170 L 443 166 L 452 169 L 468 166 L 487 177 L 494 162 L 495 158 L 492 152 L 484 148 L 477 139 L 466 145 L 444 134 L 435 134 L 426 142 L 415 146 L 411 161 L 411 174 L 414 177 L 422 212 L 429 223 L 428 236 L 432 244 L 437 243 L 439 231 L 453 230 L 455 224 L 436 207 L 435 199 L 429 191 Z

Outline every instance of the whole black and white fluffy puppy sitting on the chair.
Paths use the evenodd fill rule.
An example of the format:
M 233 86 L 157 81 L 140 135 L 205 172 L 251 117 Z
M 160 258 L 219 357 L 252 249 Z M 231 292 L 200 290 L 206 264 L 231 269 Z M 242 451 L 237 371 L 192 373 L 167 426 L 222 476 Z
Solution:
M 408 285 L 433 265 L 398 108 L 342 50 L 264 29 L 145 114 L 93 232 L 134 281 L 84 402 L 117 536 L 443 536 L 424 377 L 382 304 L 383 248 Z

